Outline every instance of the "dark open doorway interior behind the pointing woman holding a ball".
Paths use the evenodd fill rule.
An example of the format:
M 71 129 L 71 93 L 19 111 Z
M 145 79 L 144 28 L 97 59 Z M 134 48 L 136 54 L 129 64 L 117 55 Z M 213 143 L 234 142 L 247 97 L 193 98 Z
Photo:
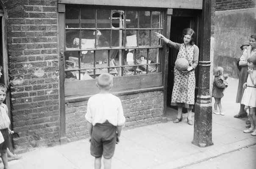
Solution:
M 192 28 L 196 35 L 195 44 L 200 49 L 200 19 L 201 10 L 184 10 L 184 9 L 173 9 L 173 16 L 171 19 L 171 30 L 170 30 L 170 40 L 183 43 L 181 39 L 182 31 L 185 28 Z M 167 82 L 167 106 L 170 106 L 172 91 L 173 91 L 173 79 L 174 79 L 174 63 L 178 55 L 178 50 L 170 48 L 169 60 L 168 60 L 168 82 Z M 198 71 L 196 70 L 196 89 L 195 89 L 195 99 L 198 94 Z M 176 107 L 173 107 L 177 109 Z M 186 110 L 184 110 L 185 112 Z

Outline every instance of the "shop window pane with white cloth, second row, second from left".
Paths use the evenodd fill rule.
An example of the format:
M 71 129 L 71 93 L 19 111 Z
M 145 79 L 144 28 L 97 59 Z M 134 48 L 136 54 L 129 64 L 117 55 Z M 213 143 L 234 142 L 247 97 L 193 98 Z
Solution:
M 81 49 L 95 48 L 95 30 L 83 30 L 81 32 Z M 83 51 L 83 54 L 87 53 Z

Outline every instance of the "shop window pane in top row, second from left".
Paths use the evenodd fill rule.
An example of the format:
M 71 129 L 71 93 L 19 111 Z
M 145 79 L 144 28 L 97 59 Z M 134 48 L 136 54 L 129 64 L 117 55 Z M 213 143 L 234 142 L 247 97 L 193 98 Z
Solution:
M 95 27 L 95 9 L 81 9 L 81 27 Z

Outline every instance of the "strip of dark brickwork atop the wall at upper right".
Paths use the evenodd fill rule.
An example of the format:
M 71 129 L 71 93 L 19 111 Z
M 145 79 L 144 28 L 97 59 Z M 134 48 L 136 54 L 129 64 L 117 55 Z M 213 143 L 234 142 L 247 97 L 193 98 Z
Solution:
M 216 11 L 255 8 L 256 0 L 216 0 Z

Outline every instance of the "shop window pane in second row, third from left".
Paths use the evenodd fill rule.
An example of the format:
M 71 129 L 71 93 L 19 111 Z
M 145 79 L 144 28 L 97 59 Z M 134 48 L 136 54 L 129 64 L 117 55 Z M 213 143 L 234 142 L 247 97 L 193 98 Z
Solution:
M 97 47 L 110 46 L 110 30 L 97 30 Z

